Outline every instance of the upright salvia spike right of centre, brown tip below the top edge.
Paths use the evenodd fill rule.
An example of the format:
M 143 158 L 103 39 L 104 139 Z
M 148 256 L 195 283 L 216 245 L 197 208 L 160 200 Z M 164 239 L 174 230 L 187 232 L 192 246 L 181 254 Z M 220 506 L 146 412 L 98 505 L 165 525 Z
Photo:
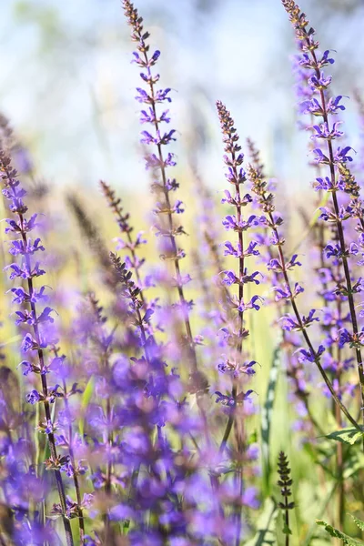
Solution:
M 248 389 L 246 392 L 239 391 L 242 388 L 242 378 L 248 377 L 255 373 L 254 366 L 255 360 L 248 359 L 248 352 L 243 350 L 243 341 L 248 337 L 248 329 L 245 327 L 244 317 L 245 313 L 249 309 L 258 310 L 261 306 L 262 298 L 257 295 L 247 298 L 247 285 L 258 285 L 260 282 L 261 274 L 258 271 L 250 272 L 247 268 L 248 258 L 252 255 L 250 248 L 253 241 L 248 241 L 248 231 L 259 225 L 260 218 L 255 215 L 249 215 L 248 220 L 243 217 L 243 208 L 247 207 L 252 202 L 252 197 L 248 193 L 243 193 L 242 186 L 246 182 L 247 178 L 245 171 L 242 167 L 244 156 L 241 153 L 241 147 L 239 146 L 239 137 L 237 129 L 234 126 L 234 121 L 220 101 L 217 101 L 217 115 L 220 121 L 221 131 L 223 134 L 224 150 L 226 155 L 224 156 L 224 162 L 227 166 L 227 181 L 232 188 L 225 190 L 225 197 L 222 202 L 232 206 L 235 211 L 235 215 L 228 215 L 223 220 L 223 226 L 227 230 L 233 230 L 236 232 L 237 240 L 234 246 L 229 241 L 225 243 L 226 248 L 234 248 L 237 258 L 237 270 L 224 271 L 223 282 L 227 287 L 236 286 L 238 290 L 238 297 L 228 298 L 227 305 L 231 310 L 238 311 L 238 321 L 233 322 L 233 325 L 227 325 L 227 355 L 223 357 L 223 362 L 219 365 L 219 370 L 222 373 L 230 373 L 232 376 L 232 389 L 231 396 L 223 395 L 221 392 L 216 392 L 217 401 L 222 404 L 227 404 L 229 407 L 229 415 L 227 420 L 227 427 L 220 444 L 220 453 L 223 453 L 227 446 L 227 440 L 235 423 L 236 425 L 236 439 L 238 458 L 244 457 L 244 452 L 247 449 L 246 443 L 246 431 L 244 429 L 244 416 L 240 413 L 237 414 L 238 406 L 244 407 L 244 401 L 249 399 L 252 394 L 252 389 Z M 237 470 L 237 487 L 240 488 L 241 494 L 243 494 L 243 468 L 242 464 L 238 464 Z M 236 517 L 236 543 L 240 542 L 241 533 L 241 506 L 238 508 Z

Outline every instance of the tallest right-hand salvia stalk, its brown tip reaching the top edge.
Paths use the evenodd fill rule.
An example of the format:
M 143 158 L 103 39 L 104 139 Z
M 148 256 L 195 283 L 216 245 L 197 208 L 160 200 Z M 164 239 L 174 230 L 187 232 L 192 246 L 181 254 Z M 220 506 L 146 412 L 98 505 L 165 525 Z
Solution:
M 319 42 L 316 41 L 314 37 L 315 30 L 311 27 L 308 28 L 308 18 L 303 12 L 301 12 L 299 6 L 292 0 L 282 0 L 282 4 L 289 15 L 289 20 L 295 29 L 296 37 L 301 44 L 303 52 L 301 56 L 301 64 L 306 66 L 311 73 L 311 76 L 308 79 L 308 84 L 315 92 L 315 96 L 319 96 L 319 100 L 314 97 L 307 101 L 305 105 L 305 112 L 322 118 L 323 123 L 320 126 L 314 127 L 316 131 L 315 136 L 324 140 L 327 147 L 327 152 L 325 153 L 320 147 L 314 150 L 317 156 L 316 162 L 319 165 L 329 167 L 329 177 L 327 177 L 325 181 L 322 178 L 317 178 L 317 188 L 325 189 L 331 193 L 333 214 L 328 216 L 325 214 L 327 211 L 322 210 L 321 218 L 324 220 L 328 219 L 334 221 L 339 238 L 339 245 L 337 248 L 331 249 L 329 246 L 327 247 L 327 255 L 335 255 L 336 258 L 339 258 L 342 264 L 346 282 L 345 295 L 348 298 L 349 313 L 353 329 L 352 338 L 359 339 L 359 325 L 353 297 L 355 289 L 353 289 L 349 271 L 349 257 L 353 250 L 352 247 L 348 248 L 347 246 L 343 227 L 343 222 L 349 219 L 351 214 L 350 210 L 347 209 L 347 214 L 343 215 L 342 208 L 339 207 L 338 199 L 338 192 L 341 190 L 353 197 L 355 201 L 359 195 L 359 187 L 355 183 L 354 178 L 350 175 L 348 167 L 346 167 L 346 163 L 352 159 L 349 157 L 349 150 L 351 148 L 344 147 L 341 149 L 338 147 L 334 152 L 333 141 L 339 136 L 342 136 L 343 133 L 338 129 L 338 122 L 333 123 L 331 126 L 329 119 L 329 116 L 337 114 L 339 110 L 343 110 L 345 107 L 340 105 L 342 96 L 331 97 L 328 99 L 328 88 L 331 83 L 331 77 L 325 77 L 322 72 L 322 68 L 334 62 L 333 59 L 329 58 L 329 51 L 326 51 L 322 56 L 319 55 Z M 325 155 L 326 153 L 327 155 Z M 340 289 L 340 287 L 338 288 Z M 360 344 L 356 343 L 354 345 L 354 351 L 358 365 L 361 418 L 364 425 L 364 368 Z

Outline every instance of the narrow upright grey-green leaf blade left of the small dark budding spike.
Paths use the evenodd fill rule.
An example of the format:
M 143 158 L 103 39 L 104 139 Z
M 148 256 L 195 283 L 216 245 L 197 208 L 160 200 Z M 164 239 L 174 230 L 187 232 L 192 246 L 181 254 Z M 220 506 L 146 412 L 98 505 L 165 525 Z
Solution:
M 278 384 L 278 372 L 280 364 L 280 356 L 282 349 L 280 344 L 273 351 L 272 364 L 269 370 L 269 381 L 266 395 L 266 401 L 262 408 L 261 416 L 261 439 L 262 439 L 262 462 L 263 462 L 263 483 L 266 493 L 269 490 L 269 475 L 270 475 L 270 460 L 269 460 L 269 443 L 270 443 L 270 424 L 273 414 L 274 400 L 276 399 L 276 389 Z

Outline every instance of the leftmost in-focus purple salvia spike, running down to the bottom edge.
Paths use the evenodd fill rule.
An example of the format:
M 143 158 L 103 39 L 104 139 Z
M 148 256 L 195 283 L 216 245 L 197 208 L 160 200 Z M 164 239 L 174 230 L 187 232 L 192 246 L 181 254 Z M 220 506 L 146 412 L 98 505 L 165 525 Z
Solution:
M 2 142 L 0 142 L 0 144 L 2 144 Z M 57 454 L 54 439 L 55 426 L 51 420 L 50 413 L 49 415 L 47 414 L 49 412 L 48 402 L 52 403 L 56 398 L 64 396 L 63 392 L 61 393 L 58 391 L 59 385 L 56 385 L 54 388 L 48 387 L 46 379 L 49 369 L 45 364 L 45 349 L 48 347 L 48 343 L 53 342 L 55 339 L 55 336 L 49 331 L 49 325 L 54 322 L 54 319 L 51 317 L 53 309 L 50 307 L 45 307 L 43 310 L 38 311 L 35 305 L 37 301 L 45 297 L 45 288 L 42 287 L 36 290 L 34 286 L 35 278 L 44 275 L 45 270 L 40 268 L 39 262 L 33 261 L 33 255 L 39 250 L 43 252 L 45 248 L 41 244 L 40 238 L 35 238 L 34 241 L 32 241 L 32 239 L 28 237 L 28 233 L 36 226 L 36 215 L 33 215 L 30 218 L 25 217 L 27 207 L 25 206 L 23 197 L 25 197 L 26 192 L 20 186 L 20 181 L 17 179 L 17 172 L 11 165 L 10 157 L 6 155 L 3 149 L 0 150 L 0 174 L 3 184 L 3 195 L 9 201 L 9 209 L 15 215 L 14 220 L 8 219 L 6 222 L 8 226 L 6 227 L 6 234 L 19 237 L 11 242 L 9 252 L 15 258 L 22 258 L 20 265 L 14 262 L 5 269 L 10 270 L 9 277 L 11 279 L 19 278 L 25 281 L 25 287 L 15 287 L 11 288 L 10 290 L 13 294 L 13 303 L 22 305 L 21 310 L 15 311 L 15 324 L 19 325 L 21 323 L 25 323 L 30 327 L 31 331 L 25 333 L 25 337 L 22 340 L 21 349 L 25 353 L 35 353 L 33 360 L 31 362 L 28 360 L 23 360 L 21 362 L 21 367 L 23 368 L 23 374 L 25 376 L 28 376 L 31 372 L 35 372 L 42 378 L 41 392 L 43 394 L 37 389 L 32 389 L 26 395 L 26 401 L 32 405 L 38 402 L 44 402 L 45 404 L 46 422 L 41 422 L 37 427 L 37 430 L 40 430 L 47 435 L 52 457 L 50 460 L 46 460 L 45 462 L 47 466 L 49 466 L 49 469 L 58 472 L 56 478 L 58 483 L 57 489 L 61 501 L 60 506 L 65 506 L 66 496 L 64 486 L 62 478 L 59 475 L 59 468 L 56 465 Z M 62 508 L 60 509 L 60 514 L 64 514 L 66 516 L 66 513 Z M 43 534 L 39 533 L 38 538 L 36 538 L 32 532 L 32 522 L 28 521 L 28 523 L 29 532 L 27 535 L 28 541 L 26 541 L 26 543 L 35 543 L 38 541 L 38 538 L 39 543 L 43 543 L 44 541 L 53 542 L 53 538 L 48 540 L 48 535 L 45 532 L 43 532 Z M 68 519 L 64 518 L 63 523 L 67 535 L 67 541 L 72 541 L 70 522 Z M 43 528 L 43 531 L 45 531 L 45 529 L 46 527 Z M 19 541 L 19 543 L 22 542 Z

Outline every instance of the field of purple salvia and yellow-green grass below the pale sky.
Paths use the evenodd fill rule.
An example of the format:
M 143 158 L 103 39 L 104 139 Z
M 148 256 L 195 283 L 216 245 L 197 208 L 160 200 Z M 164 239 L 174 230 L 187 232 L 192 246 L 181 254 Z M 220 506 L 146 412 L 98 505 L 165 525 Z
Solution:
M 48 184 L 0 115 L 0 546 L 364 545 L 364 159 L 346 94 L 361 121 L 364 103 L 334 92 L 309 14 L 273 1 L 304 194 L 284 196 L 223 96 L 218 190 L 193 154 L 180 164 L 178 96 L 129 0 L 146 192 Z

